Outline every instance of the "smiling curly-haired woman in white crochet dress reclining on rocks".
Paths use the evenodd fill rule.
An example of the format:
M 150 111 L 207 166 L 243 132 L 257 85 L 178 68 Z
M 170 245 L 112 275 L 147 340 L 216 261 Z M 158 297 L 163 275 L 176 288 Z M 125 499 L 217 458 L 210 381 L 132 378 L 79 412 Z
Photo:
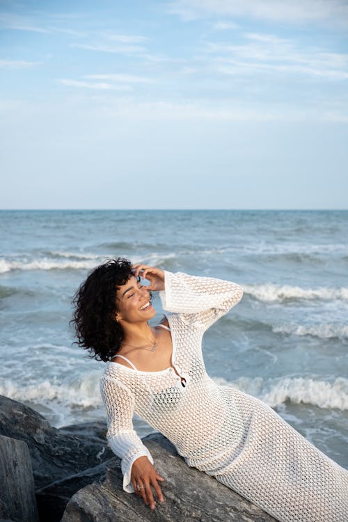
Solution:
M 141 277 L 139 277 L 141 276 Z M 141 278 L 150 285 L 141 285 Z M 158 291 L 164 320 L 155 316 Z M 281 522 L 347 522 L 348 472 L 260 400 L 217 386 L 201 340 L 242 299 L 219 279 L 172 274 L 125 259 L 97 267 L 75 296 L 79 345 L 109 361 L 101 378 L 107 438 L 122 459 L 123 488 L 152 509 L 164 500 L 151 454 L 134 432 L 136 412 L 194 466 Z

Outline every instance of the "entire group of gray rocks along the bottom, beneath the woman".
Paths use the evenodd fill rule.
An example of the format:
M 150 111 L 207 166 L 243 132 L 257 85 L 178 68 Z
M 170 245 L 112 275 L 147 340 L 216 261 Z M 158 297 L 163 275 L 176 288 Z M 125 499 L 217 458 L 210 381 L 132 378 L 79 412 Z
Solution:
M 56 429 L 33 409 L 0 396 L 0 522 L 271 522 L 274 519 L 194 468 L 160 434 L 143 439 L 164 477 L 151 511 L 122 490 L 120 459 L 106 425 Z

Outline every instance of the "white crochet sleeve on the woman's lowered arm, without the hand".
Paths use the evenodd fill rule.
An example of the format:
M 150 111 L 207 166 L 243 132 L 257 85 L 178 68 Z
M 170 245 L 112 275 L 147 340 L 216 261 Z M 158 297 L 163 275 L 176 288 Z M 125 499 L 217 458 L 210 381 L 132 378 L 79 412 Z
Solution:
M 145 455 L 153 464 L 148 448 L 143 445 L 133 428 L 134 397 L 116 379 L 105 376 L 100 379 L 100 393 L 106 410 L 106 438 L 111 450 L 122 459 L 123 489 L 127 493 L 134 493 L 131 482 L 134 461 Z

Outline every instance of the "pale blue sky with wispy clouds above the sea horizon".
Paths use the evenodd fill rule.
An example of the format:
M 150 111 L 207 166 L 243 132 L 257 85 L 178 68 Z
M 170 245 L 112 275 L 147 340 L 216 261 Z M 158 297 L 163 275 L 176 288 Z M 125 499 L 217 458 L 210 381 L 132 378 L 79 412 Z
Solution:
M 348 209 L 347 0 L 0 0 L 1 209 Z

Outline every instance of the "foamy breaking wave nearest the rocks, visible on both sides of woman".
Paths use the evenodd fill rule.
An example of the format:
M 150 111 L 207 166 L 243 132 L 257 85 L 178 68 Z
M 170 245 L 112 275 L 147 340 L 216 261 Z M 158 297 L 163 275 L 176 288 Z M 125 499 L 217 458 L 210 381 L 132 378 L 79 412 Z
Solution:
M 44 379 L 40 382 L 22 383 L 3 379 L 0 395 L 21 402 L 32 402 L 52 408 L 54 404 L 74 409 L 102 407 L 99 393 L 100 370 L 88 372 L 74 379 Z M 333 382 L 305 377 L 265 379 L 240 377 L 236 381 L 214 378 L 220 386 L 231 386 L 275 407 L 290 401 L 293 404 L 313 404 L 319 408 L 348 410 L 348 379 L 338 377 Z M 54 407 L 54 406 L 53 406 Z

